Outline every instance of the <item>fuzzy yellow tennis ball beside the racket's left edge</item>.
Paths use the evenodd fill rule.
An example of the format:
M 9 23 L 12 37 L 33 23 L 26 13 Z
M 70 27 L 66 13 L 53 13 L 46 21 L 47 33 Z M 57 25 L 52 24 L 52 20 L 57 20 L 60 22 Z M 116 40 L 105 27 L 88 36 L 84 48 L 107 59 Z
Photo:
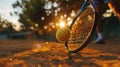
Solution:
M 56 39 L 59 42 L 66 42 L 70 37 L 70 29 L 69 28 L 59 28 L 56 32 Z

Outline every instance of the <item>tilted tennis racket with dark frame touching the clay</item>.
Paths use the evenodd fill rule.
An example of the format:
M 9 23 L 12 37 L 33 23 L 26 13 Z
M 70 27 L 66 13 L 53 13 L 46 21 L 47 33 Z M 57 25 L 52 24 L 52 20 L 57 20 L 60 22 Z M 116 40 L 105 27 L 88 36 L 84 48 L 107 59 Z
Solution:
M 69 27 L 70 38 L 65 42 L 69 52 L 75 53 L 87 46 L 96 28 L 95 19 L 96 12 L 93 5 L 85 0 Z

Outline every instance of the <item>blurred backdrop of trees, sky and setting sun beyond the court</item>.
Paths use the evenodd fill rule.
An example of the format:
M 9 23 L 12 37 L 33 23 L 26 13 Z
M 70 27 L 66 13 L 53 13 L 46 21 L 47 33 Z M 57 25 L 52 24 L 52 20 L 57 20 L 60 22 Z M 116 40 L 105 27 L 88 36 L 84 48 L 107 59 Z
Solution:
M 0 39 L 56 41 L 56 30 L 71 24 L 83 1 L 1 0 Z M 120 0 L 116 1 L 120 5 Z M 104 35 L 108 39 L 120 39 L 120 21 L 108 7 L 105 9 Z

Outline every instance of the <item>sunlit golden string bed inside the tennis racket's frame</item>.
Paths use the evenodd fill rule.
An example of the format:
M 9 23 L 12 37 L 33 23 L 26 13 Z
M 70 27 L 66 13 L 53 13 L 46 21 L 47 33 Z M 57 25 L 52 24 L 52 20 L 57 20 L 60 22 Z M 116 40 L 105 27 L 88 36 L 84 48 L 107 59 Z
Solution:
M 72 26 L 69 43 L 82 44 L 87 39 L 93 24 L 94 12 L 91 8 L 86 8 Z

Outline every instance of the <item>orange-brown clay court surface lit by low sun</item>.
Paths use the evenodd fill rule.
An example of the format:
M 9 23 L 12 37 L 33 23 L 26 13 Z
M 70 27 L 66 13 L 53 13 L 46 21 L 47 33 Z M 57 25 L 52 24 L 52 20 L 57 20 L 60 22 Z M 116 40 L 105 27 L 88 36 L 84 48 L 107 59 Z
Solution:
M 0 67 L 120 67 L 120 42 L 89 44 L 68 55 L 62 43 L 0 40 Z

